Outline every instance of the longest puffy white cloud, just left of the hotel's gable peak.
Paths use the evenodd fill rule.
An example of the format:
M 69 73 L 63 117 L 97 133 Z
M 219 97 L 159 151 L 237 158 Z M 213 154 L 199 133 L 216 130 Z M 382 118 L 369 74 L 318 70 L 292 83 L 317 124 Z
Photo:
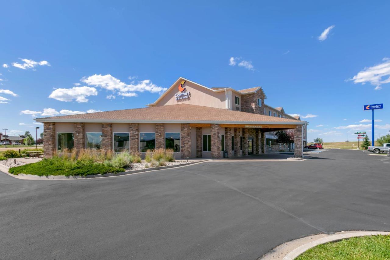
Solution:
M 160 87 L 156 84 L 153 84 L 151 80 L 141 80 L 137 84 L 134 82 L 126 84 L 121 80 L 112 77 L 110 74 L 107 75 L 92 75 L 81 79 L 82 82 L 87 83 L 88 85 L 93 85 L 96 87 L 101 87 L 113 91 L 114 93 L 118 92 L 121 96 L 137 96 L 135 92 L 151 92 L 151 93 L 161 93 L 166 91 L 166 87 Z

